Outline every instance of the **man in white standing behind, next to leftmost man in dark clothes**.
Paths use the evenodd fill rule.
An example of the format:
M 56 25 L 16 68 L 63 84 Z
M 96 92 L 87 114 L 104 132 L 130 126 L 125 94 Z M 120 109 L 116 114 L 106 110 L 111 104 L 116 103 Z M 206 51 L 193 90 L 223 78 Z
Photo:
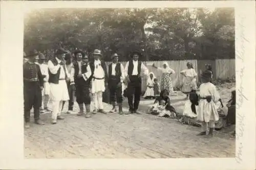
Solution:
M 44 108 L 46 111 L 49 111 L 48 109 L 48 102 L 49 102 L 49 94 L 50 94 L 50 87 L 49 87 L 49 74 L 48 74 L 48 65 L 45 64 L 45 55 L 39 54 L 38 59 L 38 65 L 40 66 L 40 70 L 44 78 L 44 89 L 42 90 L 42 108 Z

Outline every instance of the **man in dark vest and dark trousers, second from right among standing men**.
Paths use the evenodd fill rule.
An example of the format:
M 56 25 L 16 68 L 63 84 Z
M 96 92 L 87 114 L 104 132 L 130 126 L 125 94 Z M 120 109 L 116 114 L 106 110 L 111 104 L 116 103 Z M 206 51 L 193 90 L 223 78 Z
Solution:
M 112 110 L 110 113 L 116 112 L 116 102 L 119 106 L 119 114 L 123 114 L 122 111 L 122 83 L 124 80 L 124 68 L 121 63 L 118 62 L 118 54 L 111 56 L 112 63 L 109 65 L 109 89 L 110 100 L 112 102 Z

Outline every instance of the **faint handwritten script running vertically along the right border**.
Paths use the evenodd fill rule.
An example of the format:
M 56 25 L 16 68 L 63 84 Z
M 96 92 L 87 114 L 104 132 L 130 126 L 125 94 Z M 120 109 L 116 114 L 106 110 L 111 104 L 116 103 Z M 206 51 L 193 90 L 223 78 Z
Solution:
M 239 49 L 236 49 L 236 59 L 239 59 L 241 60 L 242 62 L 242 68 L 240 68 L 239 70 L 237 70 L 237 74 L 239 75 L 240 77 L 240 85 L 238 86 L 237 88 L 237 100 L 236 100 L 236 109 L 240 109 L 243 105 L 243 103 L 245 101 L 248 101 L 248 99 L 246 98 L 245 94 L 243 93 L 243 77 L 244 77 L 244 53 L 245 53 L 245 43 L 246 42 L 249 42 L 245 37 L 244 37 L 244 19 L 245 17 L 242 17 L 241 18 L 241 22 L 238 23 L 238 27 L 240 28 L 240 31 L 239 31 L 239 39 L 241 41 L 241 46 L 239 46 Z M 244 126 L 245 126 L 245 114 L 244 112 L 238 112 L 237 113 L 237 123 L 239 125 L 239 129 L 238 131 L 236 131 L 236 138 L 237 140 L 241 139 L 244 135 Z M 241 163 L 243 160 L 242 160 L 242 149 L 243 149 L 243 143 L 241 141 L 239 141 L 238 143 L 238 154 L 236 155 L 236 161 L 238 163 Z

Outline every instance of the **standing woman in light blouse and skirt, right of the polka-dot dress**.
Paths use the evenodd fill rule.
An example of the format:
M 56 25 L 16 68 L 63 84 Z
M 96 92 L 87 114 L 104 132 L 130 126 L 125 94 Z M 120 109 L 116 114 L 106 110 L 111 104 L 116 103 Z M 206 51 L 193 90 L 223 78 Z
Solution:
M 186 94 L 186 99 L 188 99 L 188 94 L 197 90 L 197 72 L 193 68 L 193 64 L 188 62 L 187 69 L 180 71 L 180 74 L 184 76 L 181 92 Z

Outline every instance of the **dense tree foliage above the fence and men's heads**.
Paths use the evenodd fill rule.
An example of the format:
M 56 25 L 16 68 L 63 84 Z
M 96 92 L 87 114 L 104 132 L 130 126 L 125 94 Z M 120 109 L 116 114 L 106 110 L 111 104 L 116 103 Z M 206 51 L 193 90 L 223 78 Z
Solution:
M 99 48 L 104 60 L 134 48 L 142 60 L 234 58 L 233 8 L 41 9 L 25 18 L 24 50 Z

